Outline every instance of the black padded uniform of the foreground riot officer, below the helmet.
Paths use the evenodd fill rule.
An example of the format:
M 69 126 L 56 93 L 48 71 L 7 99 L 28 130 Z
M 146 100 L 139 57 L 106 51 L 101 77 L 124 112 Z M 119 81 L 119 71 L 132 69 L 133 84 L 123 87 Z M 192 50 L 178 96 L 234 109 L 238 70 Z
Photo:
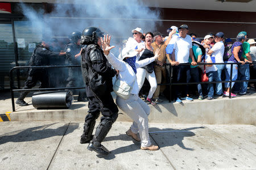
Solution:
M 101 112 L 103 116 L 92 139 L 92 143 L 94 142 L 96 146 L 101 146 L 100 143 L 104 140 L 112 124 L 118 117 L 117 105 L 115 105 L 113 97 L 110 94 L 110 92 L 113 91 L 112 78 L 117 72 L 112 69 L 102 49 L 97 44 L 90 44 L 82 50 L 81 66 L 82 75 L 86 83 L 86 94 L 89 99 L 89 113 L 85 117 L 84 132 L 81 136 L 80 143 L 87 143 L 92 139 L 93 128 Z M 105 93 L 96 95 L 95 92 L 90 89 L 88 85 L 88 69 L 90 66 L 91 69 L 105 79 Z

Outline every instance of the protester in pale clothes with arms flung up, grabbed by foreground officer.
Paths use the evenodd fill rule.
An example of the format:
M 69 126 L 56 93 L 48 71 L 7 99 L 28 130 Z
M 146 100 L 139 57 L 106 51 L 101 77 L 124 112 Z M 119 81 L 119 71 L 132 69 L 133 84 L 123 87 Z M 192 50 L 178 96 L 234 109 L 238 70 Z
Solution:
M 114 54 L 109 52 L 110 49 L 114 48 L 114 46 L 109 46 L 110 37 L 108 35 L 106 37 L 104 36 L 102 42 L 102 49 L 106 58 L 119 71 L 118 79 L 132 87 L 131 95 L 128 99 L 125 100 L 117 96 L 115 100 L 118 107 L 134 121 L 131 128 L 126 131 L 126 134 L 133 137 L 136 141 L 141 141 L 142 150 L 158 150 L 159 147 L 152 145 L 150 142 L 148 134 L 148 114 L 150 114 L 150 107 L 138 96 L 139 87 L 136 78 L 136 68 L 155 61 L 159 57 L 159 50 L 155 52 L 154 57 L 136 61 L 138 52 L 124 48 L 121 53 L 122 59 L 118 59 Z M 139 140 L 137 133 L 139 133 L 141 140 Z

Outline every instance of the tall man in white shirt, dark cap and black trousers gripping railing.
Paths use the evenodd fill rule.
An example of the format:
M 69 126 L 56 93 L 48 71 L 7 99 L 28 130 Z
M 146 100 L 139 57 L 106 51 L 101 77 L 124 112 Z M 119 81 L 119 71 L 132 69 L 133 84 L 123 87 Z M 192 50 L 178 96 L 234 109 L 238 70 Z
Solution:
M 190 66 L 180 64 L 189 63 L 189 57 L 192 59 L 191 65 L 195 66 L 197 63 L 193 57 L 191 36 L 187 35 L 188 25 L 180 25 L 178 29 L 179 35 L 171 39 L 166 47 L 166 52 L 170 56 L 170 63 L 173 66 L 172 78 L 174 82 L 188 83 L 191 79 Z M 182 102 L 180 99 L 192 101 L 193 99 L 188 96 L 188 86 L 174 86 L 174 99 L 177 103 Z

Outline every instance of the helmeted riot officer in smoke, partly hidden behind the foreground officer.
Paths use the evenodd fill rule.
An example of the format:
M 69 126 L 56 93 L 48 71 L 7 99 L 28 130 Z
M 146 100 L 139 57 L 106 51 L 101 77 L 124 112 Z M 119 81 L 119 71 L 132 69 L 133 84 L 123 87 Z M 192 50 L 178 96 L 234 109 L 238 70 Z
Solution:
M 66 52 L 66 62 L 68 65 L 80 65 L 81 63 L 81 57 L 80 57 L 80 51 L 81 51 L 81 32 L 75 31 L 72 32 L 69 36 L 70 42 L 65 47 Z M 77 67 L 69 67 L 68 68 L 68 79 L 67 79 L 67 86 L 66 87 L 78 87 L 78 86 L 84 86 L 84 82 L 81 80 L 81 68 Z M 75 92 L 73 91 L 73 94 Z M 79 96 L 77 98 L 77 101 L 86 101 L 86 93 L 85 90 L 79 90 Z

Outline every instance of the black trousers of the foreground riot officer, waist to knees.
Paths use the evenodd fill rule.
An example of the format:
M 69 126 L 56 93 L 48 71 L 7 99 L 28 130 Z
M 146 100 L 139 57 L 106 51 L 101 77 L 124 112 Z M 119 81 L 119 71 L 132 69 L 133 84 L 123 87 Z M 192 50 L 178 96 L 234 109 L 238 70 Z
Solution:
M 89 100 L 89 113 L 85 117 L 85 122 L 91 122 L 98 118 L 99 113 L 101 112 L 102 117 L 101 121 L 105 119 L 110 119 L 115 121 L 115 117 L 118 114 L 117 105 L 114 103 L 113 97 L 110 92 L 106 93 L 104 96 L 98 97 L 88 97 Z

